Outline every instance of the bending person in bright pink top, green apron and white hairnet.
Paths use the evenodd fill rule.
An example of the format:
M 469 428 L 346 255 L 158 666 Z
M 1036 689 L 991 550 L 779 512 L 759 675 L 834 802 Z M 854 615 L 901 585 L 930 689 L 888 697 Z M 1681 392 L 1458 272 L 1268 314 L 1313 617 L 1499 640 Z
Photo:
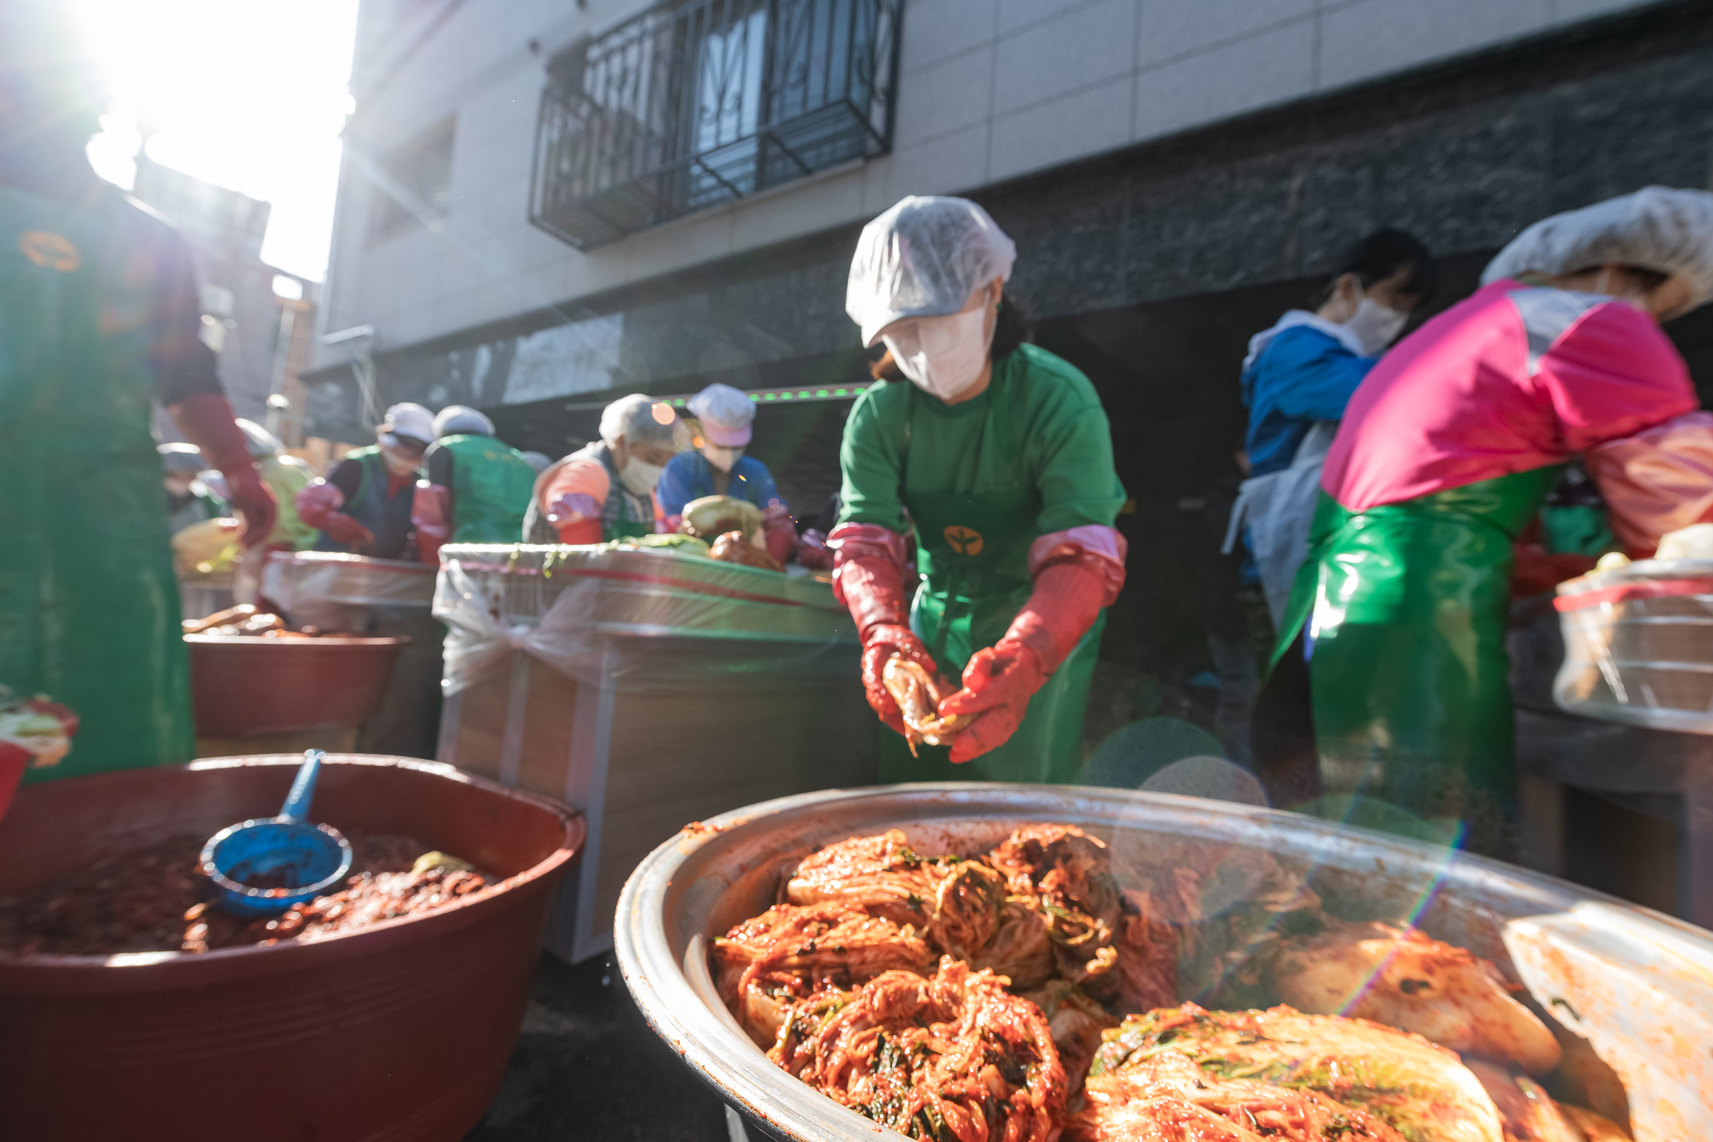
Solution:
M 1324 765 L 1502 854 L 1518 532 L 1576 454 L 1620 536 L 1713 514 L 1713 418 L 1660 330 L 1713 296 L 1713 195 L 1648 187 L 1547 217 L 1482 283 L 1352 397 L 1274 663 L 1307 657 Z

